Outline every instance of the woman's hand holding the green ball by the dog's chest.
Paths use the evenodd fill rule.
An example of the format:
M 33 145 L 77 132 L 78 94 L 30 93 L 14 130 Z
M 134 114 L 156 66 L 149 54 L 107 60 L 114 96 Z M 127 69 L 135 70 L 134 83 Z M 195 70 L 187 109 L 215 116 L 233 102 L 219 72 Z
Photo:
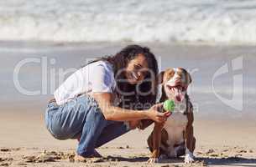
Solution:
M 154 104 L 149 110 L 147 110 L 147 115 L 149 119 L 154 120 L 157 123 L 165 123 L 166 119 L 170 116 L 170 112 L 166 111 L 165 113 L 160 113 L 160 109 L 163 108 L 163 103 Z

